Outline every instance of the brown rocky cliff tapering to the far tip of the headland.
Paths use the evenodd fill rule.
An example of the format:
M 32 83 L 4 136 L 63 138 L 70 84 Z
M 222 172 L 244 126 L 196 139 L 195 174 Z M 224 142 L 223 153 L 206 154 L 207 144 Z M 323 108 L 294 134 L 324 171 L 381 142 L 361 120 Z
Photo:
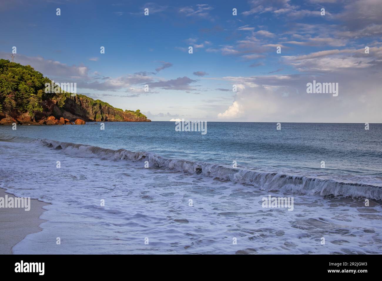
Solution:
M 139 110 L 121 110 L 114 108 L 108 103 L 100 100 L 93 100 L 84 95 L 68 97 L 65 105 L 59 108 L 57 105 L 53 108 L 52 115 L 56 118 L 63 116 L 69 120 L 77 118 L 85 121 L 126 121 L 126 122 L 150 122 Z

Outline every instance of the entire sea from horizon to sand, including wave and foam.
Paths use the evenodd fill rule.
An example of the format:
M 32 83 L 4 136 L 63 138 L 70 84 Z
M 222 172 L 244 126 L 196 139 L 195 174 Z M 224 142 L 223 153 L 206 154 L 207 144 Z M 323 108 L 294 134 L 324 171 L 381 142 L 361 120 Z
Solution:
M 0 187 L 52 203 L 14 254 L 382 254 L 382 124 L 100 126 L 0 126 Z

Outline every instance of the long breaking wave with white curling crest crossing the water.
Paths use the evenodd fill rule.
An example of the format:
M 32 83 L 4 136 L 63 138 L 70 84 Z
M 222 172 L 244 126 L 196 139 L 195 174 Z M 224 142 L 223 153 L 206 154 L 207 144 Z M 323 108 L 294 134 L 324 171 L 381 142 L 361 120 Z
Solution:
M 267 191 L 285 191 L 308 195 L 319 194 L 322 196 L 335 195 L 345 197 L 364 197 L 368 199 L 382 200 L 382 186 L 371 184 L 340 182 L 333 179 L 320 179 L 308 176 L 293 176 L 283 173 L 238 169 L 219 164 L 166 158 L 151 152 L 132 152 L 125 149 L 113 150 L 85 144 L 6 136 L 4 134 L 0 134 L 0 141 L 36 142 L 52 149 L 62 149 L 64 153 L 79 157 L 149 161 L 150 167 L 196 173 L 241 184 L 249 184 Z

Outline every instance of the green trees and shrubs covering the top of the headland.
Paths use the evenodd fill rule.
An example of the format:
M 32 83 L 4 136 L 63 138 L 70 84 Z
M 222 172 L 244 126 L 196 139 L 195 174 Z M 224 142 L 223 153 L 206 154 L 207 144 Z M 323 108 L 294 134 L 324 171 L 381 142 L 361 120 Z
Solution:
M 60 91 L 60 93 L 45 93 L 45 83 L 51 83 L 50 79 L 32 68 L 30 65 L 20 65 L 9 60 L 0 59 L 0 113 L 2 114 L 21 114 L 28 113 L 33 117 L 37 112 L 42 112 L 44 101 L 53 100 L 57 106 L 62 108 L 66 99 L 70 99 L 70 93 Z M 62 92 L 62 93 L 61 93 Z M 131 113 L 137 117 L 146 118 L 140 110 L 123 111 L 103 102 L 94 100 L 86 95 L 78 94 L 77 98 L 82 98 L 91 107 L 110 107 L 116 111 L 121 111 L 120 115 L 115 116 L 115 120 L 123 121 L 124 113 Z M 103 114 L 96 114 L 97 120 L 105 120 Z

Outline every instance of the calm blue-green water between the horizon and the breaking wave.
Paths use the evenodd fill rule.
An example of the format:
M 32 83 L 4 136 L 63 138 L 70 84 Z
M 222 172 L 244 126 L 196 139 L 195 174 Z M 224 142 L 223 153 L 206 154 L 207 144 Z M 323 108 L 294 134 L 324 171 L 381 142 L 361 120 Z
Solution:
M 15 136 L 147 151 L 256 171 L 316 176 L 382 186 L 382 124 L 208 122 L 207 134 L 176 132 L 174 122 L 85 126 L 0 126 Z M 325 168 L 321 168 L 325 161 Z

